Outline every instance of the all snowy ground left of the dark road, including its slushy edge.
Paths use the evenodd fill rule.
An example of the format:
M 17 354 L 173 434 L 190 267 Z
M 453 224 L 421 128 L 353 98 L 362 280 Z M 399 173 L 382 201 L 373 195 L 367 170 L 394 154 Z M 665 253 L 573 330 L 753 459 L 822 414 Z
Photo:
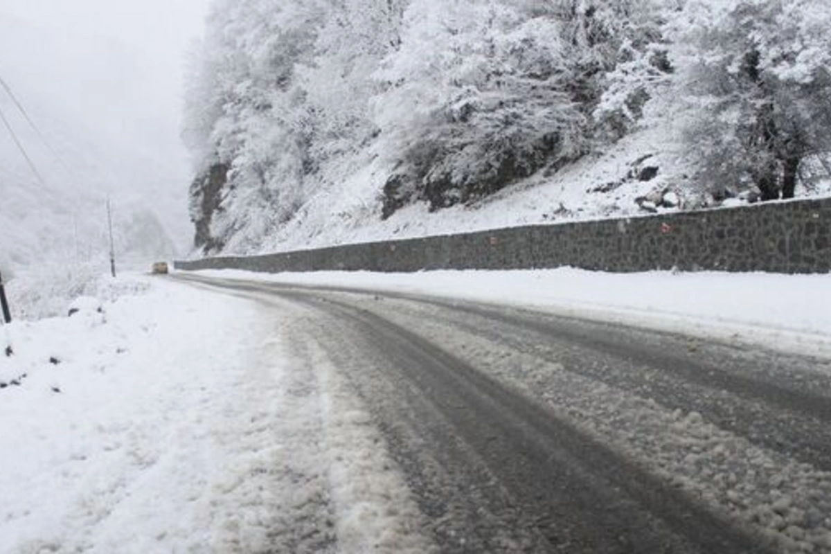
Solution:
M 99 292 L 2 330 L 0 552 L 430 550 L 368 415 L 288 323 L 150 277 Z

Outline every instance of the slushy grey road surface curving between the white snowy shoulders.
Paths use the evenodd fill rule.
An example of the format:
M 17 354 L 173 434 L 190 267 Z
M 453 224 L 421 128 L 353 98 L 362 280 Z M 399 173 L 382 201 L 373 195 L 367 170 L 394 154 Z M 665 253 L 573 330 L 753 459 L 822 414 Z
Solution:
M 412 293 L 179 278 L 291 314 L 289 335 L 366 402 L 442 552 L 831 550 L 828 361 Z

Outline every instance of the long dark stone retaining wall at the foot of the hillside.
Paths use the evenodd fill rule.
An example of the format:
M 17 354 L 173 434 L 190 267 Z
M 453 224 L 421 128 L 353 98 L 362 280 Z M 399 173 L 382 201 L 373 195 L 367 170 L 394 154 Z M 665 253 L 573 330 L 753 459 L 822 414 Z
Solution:
M 256 272 L 583 267 L 642 272 L 831 271 L 831 199 L 496 229 L 254 257 L 175 262 Z

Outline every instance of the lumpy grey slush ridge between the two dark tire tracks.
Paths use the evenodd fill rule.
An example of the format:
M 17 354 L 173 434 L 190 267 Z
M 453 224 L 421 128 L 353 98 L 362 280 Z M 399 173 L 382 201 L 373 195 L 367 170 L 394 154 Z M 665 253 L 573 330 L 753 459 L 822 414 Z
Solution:
M 643 368 L 627 360 L 598 361 L 597 353 L 585 348 L 577 354 L 569 350 L 571 346 L 549 348 L 539 336 L 524 336 L 512 344 L 499 336 L 499 331 L 509 333 L 509 326 L 487 327 L 434 310 L 413 309 L 408 302 L 386 303 L 381 307 L 362 301 L 361 306 L 375 306 L 391 320 L 416 329 L 425 340 L 442 344 L 477 369 L 548 404 L 651 472 L 755 527 L 781 552 L 831 550 L 827 516 L 831 513 L 831 474 L 799 463 L 789 451 L 758 448 L 745 437 L 708 423 L 689 404 L 681 404 L 685 409 L 667 409 L 665 397 L 658 396 L 656 401 L 644 395 L 652 390 L 654 372 L 638 379 L 643 377 Z M 540 348 L 546 355 L 539 355 Z M 621 387 L 621 379 L 627 377 L 637 386 Z M 706 395 L 705 404 L 711 396 Z M 764 406 L 756 414 L 764 429 L 777 410 Z M 787 431 L 789 418 L 796 416 L 783 417 L 781 430 Z M 822 428 L 822 422 L 814 424 Z M 793 430 L 804 431 L 800 424 Z

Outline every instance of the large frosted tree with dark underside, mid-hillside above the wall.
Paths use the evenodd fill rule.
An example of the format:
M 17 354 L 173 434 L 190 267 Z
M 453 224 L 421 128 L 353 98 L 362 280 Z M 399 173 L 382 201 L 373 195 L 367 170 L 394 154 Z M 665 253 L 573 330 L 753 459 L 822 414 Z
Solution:
M 396 165 L 385 214 L 412 198 L 465 201 L 584 150 L 567 93 L 561 25 L 500 0 L 413 0 L 401 47 L 377 78 L 384 155 Z

